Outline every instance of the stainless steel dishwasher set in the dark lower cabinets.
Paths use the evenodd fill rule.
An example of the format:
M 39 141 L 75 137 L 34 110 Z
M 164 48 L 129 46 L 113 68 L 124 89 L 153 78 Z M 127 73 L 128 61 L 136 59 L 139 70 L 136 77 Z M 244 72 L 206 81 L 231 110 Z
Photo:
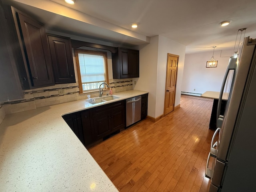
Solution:
M 141 119 L 141 96 L 126 99 L 126 127 Z

